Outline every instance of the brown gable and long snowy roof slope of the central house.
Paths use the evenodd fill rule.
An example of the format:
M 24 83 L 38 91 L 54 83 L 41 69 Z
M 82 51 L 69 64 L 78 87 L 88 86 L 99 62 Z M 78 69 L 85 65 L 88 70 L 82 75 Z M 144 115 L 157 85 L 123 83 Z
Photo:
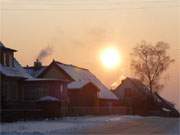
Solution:
M 42 73 L 40 73 L 38 78 L 54 78 L 75 81 L 75 85 L 78 84 L 78 86 L 81 82 L 93 83 L 100 90 L 98 95 L 99 99 L 118 100 L 116 95 L 88 69 L 80 68 L 74 65 L 67 65 L 53 61 Z

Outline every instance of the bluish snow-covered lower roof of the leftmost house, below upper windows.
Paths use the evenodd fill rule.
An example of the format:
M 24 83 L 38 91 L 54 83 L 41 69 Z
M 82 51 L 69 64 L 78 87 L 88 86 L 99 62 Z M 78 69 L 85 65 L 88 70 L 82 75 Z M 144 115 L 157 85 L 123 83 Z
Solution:
M 0 64 L 0 73 L 8 77 L 32 78 L 18 61 L 14 58 L 14 67 L 7 67 Z

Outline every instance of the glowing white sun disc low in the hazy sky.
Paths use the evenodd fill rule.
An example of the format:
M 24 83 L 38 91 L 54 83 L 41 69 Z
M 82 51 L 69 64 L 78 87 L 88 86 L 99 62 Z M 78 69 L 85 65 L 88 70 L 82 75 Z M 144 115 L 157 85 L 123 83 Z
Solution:
M 120 54 L 117 48 L 105 48 L 100 55 L 101 61 L 106 68 L 113 69 L 119 66 L 121 62 Z

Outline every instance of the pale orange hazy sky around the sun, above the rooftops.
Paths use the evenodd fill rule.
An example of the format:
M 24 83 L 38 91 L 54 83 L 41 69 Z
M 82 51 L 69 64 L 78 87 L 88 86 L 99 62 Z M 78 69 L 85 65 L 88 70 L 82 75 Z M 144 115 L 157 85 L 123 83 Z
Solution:
M 167 42 L 176 62 L 162 78 L 161 95 L 178 104 L 179 18 L 179 0 L 0 0 L 0 40 L 18 50 L 24 66 L 49 46 L 52 53 L 43 64 L 55 59 L 88 68 L 108 87 L 132 76 L 130 53 L 137 43 Z M 122 59 L 113 70 L 99 58 L 108 46 L 115 46 Z

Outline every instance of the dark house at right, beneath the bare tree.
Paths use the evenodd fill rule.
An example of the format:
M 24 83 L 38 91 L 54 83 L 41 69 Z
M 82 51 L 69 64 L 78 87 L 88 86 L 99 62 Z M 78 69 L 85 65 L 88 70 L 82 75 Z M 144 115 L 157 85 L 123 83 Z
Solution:
M 127 77 L 114 90 L 121 105 L 131 108 L 131 114 L 179 116 L 174 105 L 158 93 L 151 93 L 138 79 Z

